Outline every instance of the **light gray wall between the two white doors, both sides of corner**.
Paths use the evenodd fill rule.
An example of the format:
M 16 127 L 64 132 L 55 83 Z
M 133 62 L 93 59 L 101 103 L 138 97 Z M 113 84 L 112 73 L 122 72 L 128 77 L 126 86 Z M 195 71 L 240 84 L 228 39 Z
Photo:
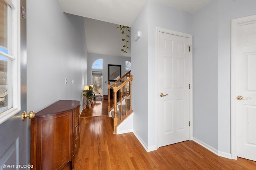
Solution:
M 214 0 L 193 16 L 194 137 L 219 152 L 231 152 L 231 20 L 255 15 L 255 9 L 255 0 Z

